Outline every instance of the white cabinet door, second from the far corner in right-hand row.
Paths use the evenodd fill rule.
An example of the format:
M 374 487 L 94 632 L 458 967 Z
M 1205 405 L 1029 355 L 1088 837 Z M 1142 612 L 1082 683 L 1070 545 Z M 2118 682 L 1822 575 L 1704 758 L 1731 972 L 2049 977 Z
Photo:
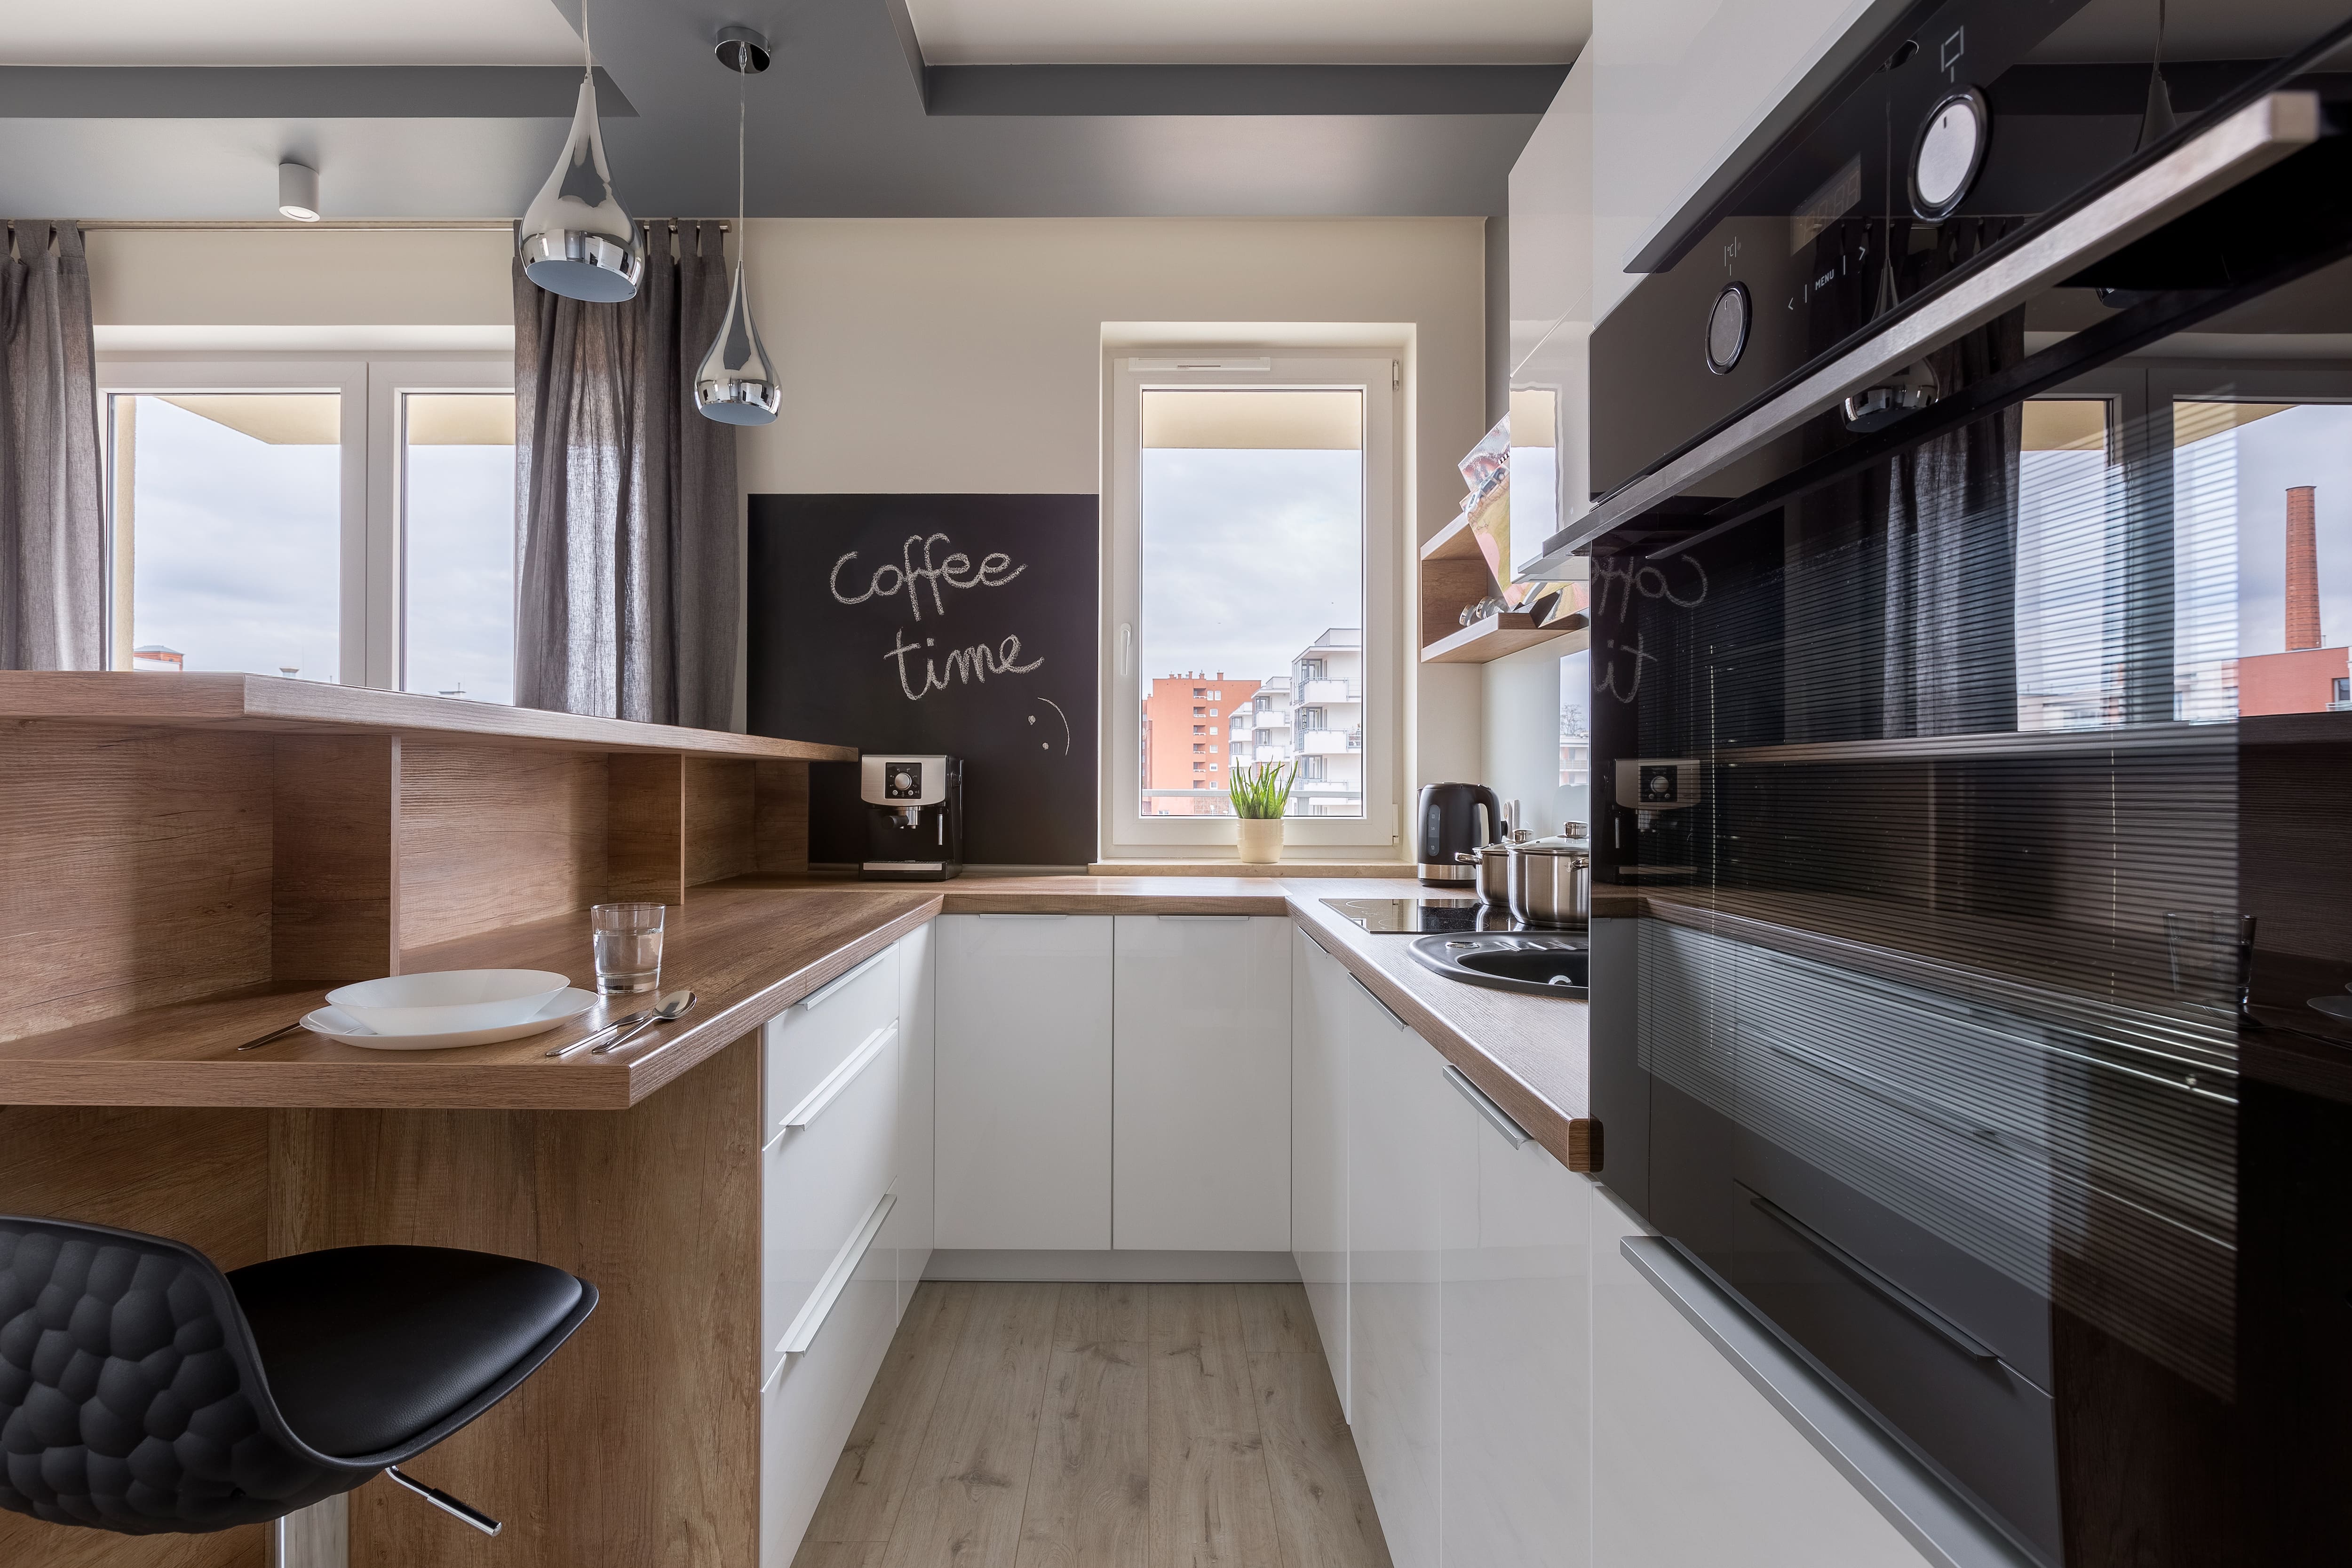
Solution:
M 1437 1568 L 1444 1173 L 1470 1110 L 1446 1086 L 1437 1051 L 1352 976 L 1338 1001 L 1350 1425 L 1395 1568 Z

